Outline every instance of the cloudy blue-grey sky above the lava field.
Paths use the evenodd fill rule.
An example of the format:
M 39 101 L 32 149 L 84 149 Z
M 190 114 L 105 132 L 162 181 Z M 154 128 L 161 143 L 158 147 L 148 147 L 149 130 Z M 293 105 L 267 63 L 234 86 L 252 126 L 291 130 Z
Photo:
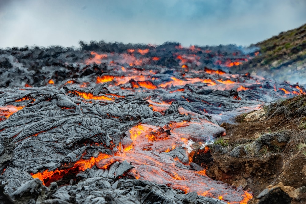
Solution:
M 306 0 L 0 0 L 0 48 L 79 41 L 248 46 L 306 23 Z

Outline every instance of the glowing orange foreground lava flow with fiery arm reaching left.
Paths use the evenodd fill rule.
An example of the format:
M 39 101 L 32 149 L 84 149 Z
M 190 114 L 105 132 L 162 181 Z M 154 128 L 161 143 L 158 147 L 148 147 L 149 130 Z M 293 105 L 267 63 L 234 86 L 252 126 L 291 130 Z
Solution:
M 163 128 L 139 124 L 128 131 L 128 136 L 132 140 L 132 144 L 124 148 L 119 144 L 118 150 L 120 152 L 113 156 L 100 153 L 96 158 L 91 157 L 86 160 L 80 159 L 75 163 L 63 164 L 61 169 L 56 169 L 54 171 L 45 170 L 44 172 L 38 172 L 36 174 L 31 173 L 31 175 L 33 178 L 42 180 L 44 185 L 49 186 L 51 182 L 62 179 L 65 175 L 77 174 L 80 171 L 92 168 L 94 165 L 100 169 L 108 169 L 115 161 L 127 160 L 132 161 L 132 165 L 135 166 L 135 169 L 129 171 L 127 175 L 132 175 L 136 179 L 166 184 L 169 187 L 182 190 L 185 193 L 196 191 L 198 195 L 219 198 L 225 201 L 227 201 L 227 199 L 235 199 L 234 202 L 228 203 L 247 203 L 247 201 L 252 198 L 252 194 L 247 191 L 239 191 L 237 195 L 233 196 L 230 193 L 233 191 L 230 190 L 227 193 L 226 189 L 228 189 L 228 186 L 225 186 L 225 192 L 220 191 L 219 193 L 222 195 L 218 195 L 219 193 L 216 193 L 213 187 L 209 187 L 212 180 L 206 176 L 206 169 L 203 168 L 200 171 L 182 169 L 176 166 L 177 163 L 182 162 L 179 158 L 172 158 L 170 155 L 161 154 L 163 152 L 170 152 L 188 143 L 187 138 L 181 138 L 184 134 L 180 134 L 179 132 L 184 132 L 184 128 L 188 129 L 189 125 L 192 124 L 197 124 L 199 127 L 202 127 L 202 123 L 206 123 L 205 121 L 206 120 L 197 122 L 173 122 Z M 196 126 L 192 126 L 192 128 L 194 127 Z M 167 128 L 171 131 L 171 134 L 165 131 Z M 175 129 L 177 129 L 177 131 L 175 131 Z M 205 153 L 208 150 L 209 148 L 206 146 L 203 151 Z M 189 154 L 189 158 L 191 155 L 192 154 Z M 188 165 L 188 163 L 189 161 L 184 164 Z M 216 188 L 218 188 L 218 186 L 216 186 Z

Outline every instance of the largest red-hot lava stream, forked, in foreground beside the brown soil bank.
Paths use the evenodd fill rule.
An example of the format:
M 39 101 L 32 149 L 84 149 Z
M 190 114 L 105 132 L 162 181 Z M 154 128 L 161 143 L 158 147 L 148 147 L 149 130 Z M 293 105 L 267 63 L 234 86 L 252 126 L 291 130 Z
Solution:
M 251 193 L 243 191 L 242 188 L 236 189 L 223 182 L 212 180 L 206 176 L 204 168 L 196 171 L 189 166 L 194 152 L 191 152 L 191 141 L 188 139 L 206 141 L 210 139 L 207 138 L 209 136 L 203 136 L 201 132 L 209 132 L 214 127 L 219 128 L 203 119 L 170 123 L 162 128 L 140 124 L 127 132 L 129 139 L 125 138 L 125 142 L 119 144 L 118 152 L 114 156 L 100 154 L 97 158 L 81 159 L 68 169 L 57 169 L 51 172 L 46 170 L 32 176 L 41 179 L 45 185 L 49 185 L 69 172 L 84 171 L 93 165 L 100 169 L 108 169 L 115 161 L 127 160 L 135 166 L 127 175 L 136 179 L 165 184 L 185 193 L 196 191 L 198 195 L 222 199 L 228 203 L 247 203 L 252 198 Z M 173 156 L 175 154 L 171 154 L 171 151 L 176 148 L 183 152 Z M 208 147 L 205 147 L 204 151 L 208 150 Z

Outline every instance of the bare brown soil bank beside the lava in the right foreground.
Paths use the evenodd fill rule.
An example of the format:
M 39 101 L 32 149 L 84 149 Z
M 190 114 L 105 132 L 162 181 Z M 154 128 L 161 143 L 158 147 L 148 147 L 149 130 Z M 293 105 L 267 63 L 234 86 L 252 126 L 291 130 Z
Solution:
M 266 119 L 261 121 L 244 121 L 246 114 L 243 114 L 236 118 L 236 124 L 223 123 L 221 126 L 227 135 L 221 142 L 215 141 L 209 146 L 211 158 L 202 155 L 203 161 L 195 158 L 198 159 L 196 162 L 207 165 L 207 176 L 212 179 L 251 191 L 254 196 L 249 203 L 257 203 L 256 197 L 270 184 L 282 182 L 293 188 L 306 186 L 306 130 L 300 127 L 305 117 L 296 113 L 297 108 L 292 109 L 292 104 L 300 100 L 306 101 L 306 97 L 299 96 L 266 107 Z M 279 111 L 281 106 L 285 107 L 284 111 Z M 278 135 L 286 141 L 273 137 L 269 141 L 264 139 L 269 135 Z M 303 143 L 305 146 L 299 147 Z M 240 151 L 235 151 L 238 146 L 241 146 Z M 300 199 L 293 199 L 292 203 L 306 203 L 306 193 Z

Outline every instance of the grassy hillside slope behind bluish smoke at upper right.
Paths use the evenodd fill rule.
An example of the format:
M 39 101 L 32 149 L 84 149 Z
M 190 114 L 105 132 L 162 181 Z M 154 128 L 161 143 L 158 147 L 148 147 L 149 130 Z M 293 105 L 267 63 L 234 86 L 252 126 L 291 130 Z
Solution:
M 301 77 L 306 74 L 306 24 L 251 46 L 259 47 L 259 53 L 238 66 L 238 72 L 255 72 L 275 80 L 306 83 Z

